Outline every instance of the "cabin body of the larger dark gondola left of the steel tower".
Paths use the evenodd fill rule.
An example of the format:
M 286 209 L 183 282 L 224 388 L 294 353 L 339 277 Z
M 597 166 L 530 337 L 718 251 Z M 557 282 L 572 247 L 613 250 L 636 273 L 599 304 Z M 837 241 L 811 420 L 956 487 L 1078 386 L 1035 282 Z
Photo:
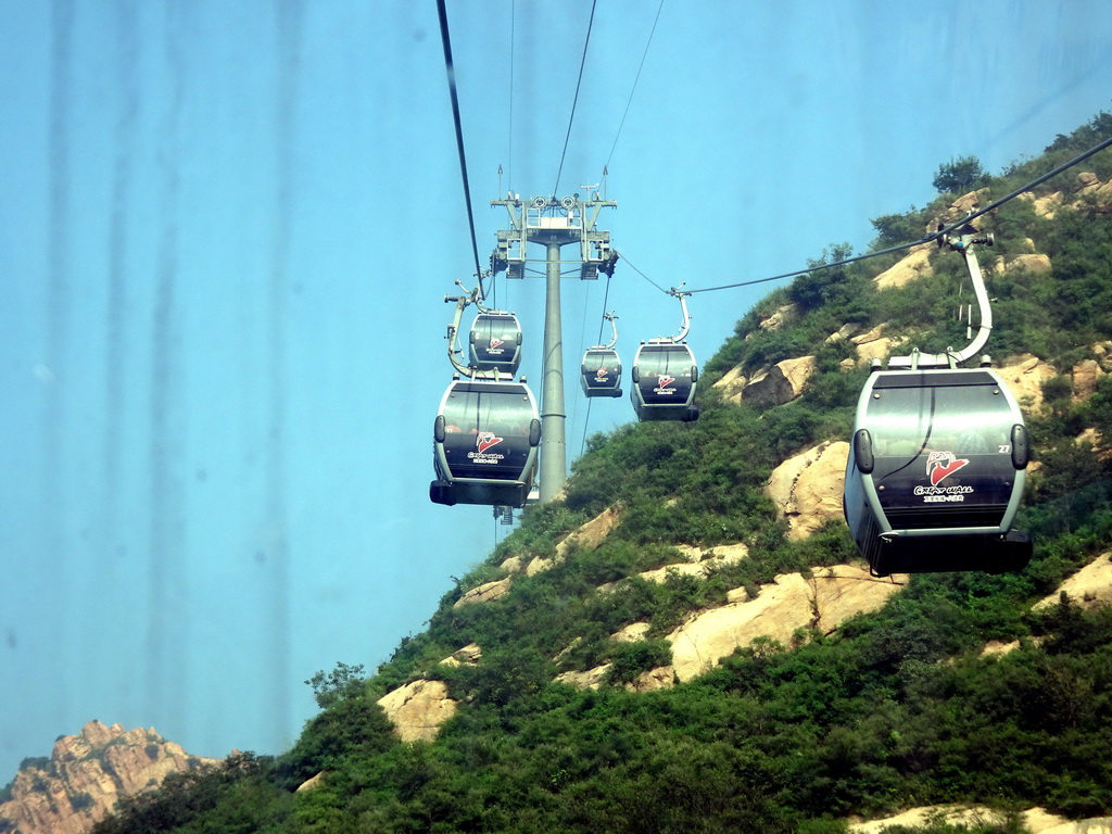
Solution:
M 435 504 L 523 507 L 537 470 L 540 416 L 524 380 L 456 379 L 433 430 Z

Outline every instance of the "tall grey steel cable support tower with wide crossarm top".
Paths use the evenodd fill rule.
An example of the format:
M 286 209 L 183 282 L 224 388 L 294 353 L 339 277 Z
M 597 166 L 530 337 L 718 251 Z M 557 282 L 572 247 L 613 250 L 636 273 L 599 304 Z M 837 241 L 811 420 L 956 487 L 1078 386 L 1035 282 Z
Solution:
M 605 200 L 595 190 L 588 199 L 534 197 L 522 200 L 510 192 L 506 199 L 490 200 L 509 212 L 508 229 L 498 230 L 498 244 L 490 256 L 492 271 L 506 270 L 507 278 L 525 278 L 528 244 L 544 244 L 545 256 L 545 344 L 540 389 L 540 502 L 553 498 L 567 480 L 567 450 L 564 439 L 564 339 L 560 324 L 560 248 L 579 245 L 578 277 L 597 279 L 610 275 L 617 254 L 610 251 L 610 234 L 596 228 L 603 208 L 617 202 Z

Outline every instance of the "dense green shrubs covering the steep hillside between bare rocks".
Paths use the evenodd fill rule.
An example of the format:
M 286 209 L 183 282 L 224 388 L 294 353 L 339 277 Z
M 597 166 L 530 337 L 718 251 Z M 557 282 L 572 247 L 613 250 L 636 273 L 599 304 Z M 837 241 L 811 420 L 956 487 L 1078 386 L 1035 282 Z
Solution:
M 1102 113 L 999 177 L 962 159 L 940 169 L 936 186 L 974 177 L 995 199 L 1109 136 L 1112 117 Z M 1084 170 L 1109 179 L 1112 151 Z M 1072 193 L 1076 173 L 1036 196 Z M 920 239 L 956 196 L 878 218 L 874 248 Z M 898 255 L 818 269 L 742 318 L 704 369 L 697 423 L 629 425 L 592 438 L 566 500 L 527 512 L 519 529 L 456 582 L 427 631 L 404 641 L 368 679 L 341 664 L 307 682 L 321 712 L 291 751 L 170 777 L 160 792 L 123 803 L 98 831 L 822 834 L 845 831 L 851 815 L 946 802 L 1007 812 L 1042 805 L 1070 817 L 1109 813 L 1112 612 L 1066 598 L 1036 612 L 1032 603 L 1112 539 L 1112 377 L 1082 401 L 1069 377 L 1094 342 L 1112 339 L 1112 224 L 1084 198 L 1053 220 L 1016 199 L 986 227 L 996 247 L 985 250 L 985 262 L 1032 250 L 1053 262 L 1051 275 L 1009 271 L 991 285 L 995 354 L 1035 354 L 1060 373 L 1030 419 L 1040 468 L 1022 527 L 1037 545 L 1024 572 L 916 576 L 884 608 L 833 635 L 800 634 L 791 646 L 757 642 L 669 689 L 623 686 L 668 663 L 663 636 L 728 589 L 757 593 L 776 574 L 852 557 L 842 524 L 788 542 L 763 492 L 785 457 L 848 433 L 865 371 L 844 370 L 853 348 L 827 337 L 846 324 L 887 324 L 924 350 L 964 344 L 951 314 L 963 275 L 957 256 L 939 252 L 935 278 L 892 290 L 871 279 Z M 835 245 L 812 266 L 848 254 Z M 761 327 L 780 309 L 785 326 Z M 818 373 L 787 405 L 731 405 L 711 387 L 735 366 L 752 373 L 803 355 L 816 356 Z M 1086 427 L 1099 434 L 1078 440 Z M 622 520 L 598 548 L 515 577 L 497 603 L 453 606 L 503 576 L 499 565 L 512 556 L 553 557 L 565 534 L 613 505 Z M 635 576 L 675 560 L 677 544 L 729 542 L 746 543 L 751 558 L 705 582 Z M 595 593 L 619 579 L 622 593 Z M 612 638 L 634 622 L 649 624 L 644 639 Z M 1019 647 L 985 656 L 987 641 Z M 440 664 L 470 643 L 483 648 L 477 665 Z M 554 683 L 560 672 L 603 662 L 613 664 L 609 683 L 597 691 Z M 401 744 L 375 702 L 418 677 L 444 681 L 461 706 L 435 742 Z M 320 772 L 315 790 L 292 793 Z M 976 830 L 1021 825 L 1013 813 Z

